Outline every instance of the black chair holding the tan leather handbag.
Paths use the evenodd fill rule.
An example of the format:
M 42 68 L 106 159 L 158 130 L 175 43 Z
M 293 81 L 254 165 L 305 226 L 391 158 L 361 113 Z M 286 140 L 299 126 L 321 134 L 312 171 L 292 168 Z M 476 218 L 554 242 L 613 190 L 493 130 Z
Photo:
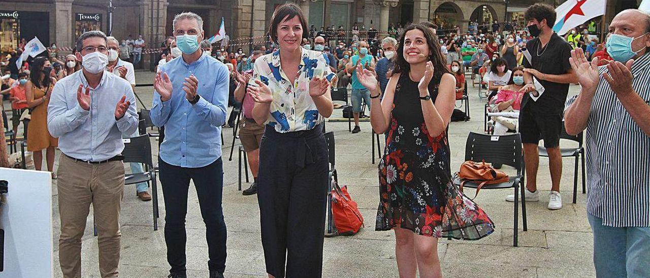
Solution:
M 519 225 L 519 198 L 517 198 L 517 190 L 521 189 L 521 210 L 524 231 L 528 231 L 526 225 L 526 197 L 524 193 L 524 178 L 525 172 L 523 171 L 524 161 L 521 152 L 521 136 L 519 133 L 492 136 L 480 133 L 469 133 L 467 142 L 465 143 L 465 161 L 472 160 L 495 164 L 504 164 L 512 166 L 517 169 L 517 175 L 510 177 L 506 183 L 486 184 L 481 189 L 502 189 L 502 188 L 515 188 L 515 205 L 514 205 L 514 230 L 513 230 L 513 246 L 518 244 L 518 225 Z M 460 186 L 461 180 L 456 177 L 454 184 Z M 478 188 L 478 184 L 471 181 L 466 181 L 464 187 Z

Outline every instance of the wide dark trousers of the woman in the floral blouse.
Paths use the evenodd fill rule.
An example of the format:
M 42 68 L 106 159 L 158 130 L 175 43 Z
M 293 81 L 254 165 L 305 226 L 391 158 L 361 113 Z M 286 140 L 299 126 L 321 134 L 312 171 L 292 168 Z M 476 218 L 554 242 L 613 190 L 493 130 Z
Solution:
M 322 275 L 328 165 L 322 125 L 292 133 L 266 126 L 257 200 L 266 272 L 276 278 Z

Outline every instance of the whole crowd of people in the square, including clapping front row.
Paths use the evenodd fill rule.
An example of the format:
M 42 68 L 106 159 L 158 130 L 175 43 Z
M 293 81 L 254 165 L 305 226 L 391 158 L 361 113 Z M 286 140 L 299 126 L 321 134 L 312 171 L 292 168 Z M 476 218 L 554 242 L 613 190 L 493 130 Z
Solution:
M 253 172 L 243 194 L 257 194 L 268 276 L 322 276 L 329 182 L 322 130 L 333 112 L 331 88 L 347 86 L 352 133 L 359 133 L 367 105 L 373 131 L 386 139 L 375 230 L 394 231 L 400 277 L 441 277 L 439 238 L 478 240 L 494 231 L 486 212 L 452 183 L 447 134 L 466 73 L 485 83 L 487 102 L 504 113 L 493 117 L 493 133 L 514 130 L 521 136 L 526 201 L 539 201 L 543 140 L 552 182 L 547 207 L 562 208 L 560 134 L 586 131 L 587 218 L 597 275 L 650 276 L 643 267 L 650 257 L 650 177 L 638 175 L 650 171 L 650 15 L 617 14 L 604 42 L 589 26 L 558 36 L 549 5 L 530 6 L 525 18 L 526 29 L 519 31 L 511 25 L 487 32 L 474 25 L 466 33 L 438 34 L 437 25 L 422 22 L 391 26 L 383 38 L 362 25 L 352 28 L 348 42 L 339 40 L 343 27 L 308 28 L 302 10 L 284 4 L 270 22 L 271 44 L 255 45 L 247 54 L 227 51 L 237 46 L 227 40 L 210 44 L 200 16 L 177 14 L 153 80 L 150 114 L 153 124 L 164 128 L 158 165 L 169 277 L 187 277 L 190 181 L 207 229 L 209 277 L 224 277 L 221 133 L 235 125 L 229 106 L 242 113 L 239 136 Z M 131 50 L 125 42 L 85 32 L 73 55 L 55 61 L 58 71 L 57 55 L 40 56 L 3 79 L 12 128 L 29 114 L 27 149 L 34 167 L 42 169 L 45 150 L 47 170 L 59 179 L 64 277 L 81 275 L 81 236 L 91 204 L 102 212 L 95 216 L 99 272 L 118 276 L 122 138 L 140 135 L 133 63 L 141 56 L 127 61 Z M 134 44 L 143 47 L 144 41 L 140 37 Z M 580 94 L 567 101 L 569 84 L 575 83 Z M 57 175 L 56 147 L 62 153 Z M 142 171 L 138 167 L 131 164 L 131 171 Z M 146 183 L 136 186 L 143 201 L 151 199 L 147 189 Z

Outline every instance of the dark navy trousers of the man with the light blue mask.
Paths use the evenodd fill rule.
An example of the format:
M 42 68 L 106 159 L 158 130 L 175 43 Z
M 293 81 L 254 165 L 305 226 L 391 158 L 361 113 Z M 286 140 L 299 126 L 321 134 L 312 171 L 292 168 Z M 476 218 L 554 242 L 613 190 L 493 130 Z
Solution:
M 222 159 L 201 168 L 183 168 L 158 159 L 162 193 L 164 195 L 164 241 L 167 244 L 167 262 L 171 273 L 185 273 L 185 215 L 187 190 L 194 181 L 201 216 L 205 223 L 209 270 L 226 270 L 226 222 L 221 207 L 224 186 Z

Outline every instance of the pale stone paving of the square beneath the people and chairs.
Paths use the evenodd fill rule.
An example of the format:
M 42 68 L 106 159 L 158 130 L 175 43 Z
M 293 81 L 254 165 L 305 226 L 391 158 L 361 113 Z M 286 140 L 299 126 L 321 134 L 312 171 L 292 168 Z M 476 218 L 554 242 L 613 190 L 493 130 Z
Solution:
M 151 83 L 153 75 L 136 73 L 138 82 Z M 571 95 L 577 94 L 571 86 Z M 138 87 L 136 94 L 151 107 L 151 87 Z M 469 131 L 482 132 L 483 100 L 477 89 L 469 88 L 472 120 L 451 123 L 449 142 L 452 169 L 463 162 L 464 145 Z M 460 105 L 460 103 L 458 103 Z M 139 103 L 138 103 L 139 108 Z M 341 116 L 341 110 L 335 111 Z M 348 185 L 350 194 L 365 217 L 365 229 L 355 236 L 326 238 L 324 244 L 325 277 L 398 277 L 395 262 L 395 239 L 392 232 L 374 231 L 378 205 L 376 164 L 370 162 L 370 123 L 361 124 L 361 133 L 348 133 L 346 123 L 328 123 L 335 132 L 336 168 L 339 181 Z M 224 196 L 223 206 L 228 230 L 226 277 L 265 277 L 264 257 L 259 230 L 257 197 L 242 196 L 237 191 L 237 153 L 227 160 L 233 129 L 224 129 Z M 154 146 L 157 142 L 152 140 Z M 562 144 L 565 146 L 571 145 Z M 383 145 L 383 144 L 382 144 Z M 57 153 L 58 154 L 58 153 Z M 154 155 L 157 149 L 154 150 Z M 519 247 L 512 247 L 512 203 L 504 197 L 511 190 L 482 190 L 476 202 L 486 210 L 497 225 L 495 233 L 476 242 L 440 240 L 438 253 L 446 277 L 593 277 L 591 262 L 592 240 L 586 220 L 585 195 L 578 194 L 577 204 L 571 204 L 573 160 L 565 158 L 562 175 L 564 208 L 551 211 L 549 200 L 550 175 L 548 160 L 540 159 L 538 184 L 541 201 L 528 203 L 528 231 L 519 230 Z M 248 184 L 244 184 L 247 188 Z M 192 188 L 190 186 L 190 188 Z M 164 205 L 159 190 L 161 218 L 159 231 L 153 231 L 151 202 L 135 196 L 135 188 L 127 186 L 122 205 L 121 277 L 166 277 L 166 248 L 164 244 Z M 473 196 L 473 190 L 466 192 Z M 187 214 L 188 277 L 207 277 L 207 244 L 205 226 L 201 220 L 196 191 L 190 190 Z M 55 238 L 55 277 L 61 277 L 58 247 L 59 212 L 57 185 L 53 184 L 53 214 Z M 521 218 L 520 218 L 521 219 Z M 521 229 L 521 220 L 519 223 Z M 99 277 L 97 238 L 92 235 L 92 217 L 88 218 L 83 236 L 83 277 Z

